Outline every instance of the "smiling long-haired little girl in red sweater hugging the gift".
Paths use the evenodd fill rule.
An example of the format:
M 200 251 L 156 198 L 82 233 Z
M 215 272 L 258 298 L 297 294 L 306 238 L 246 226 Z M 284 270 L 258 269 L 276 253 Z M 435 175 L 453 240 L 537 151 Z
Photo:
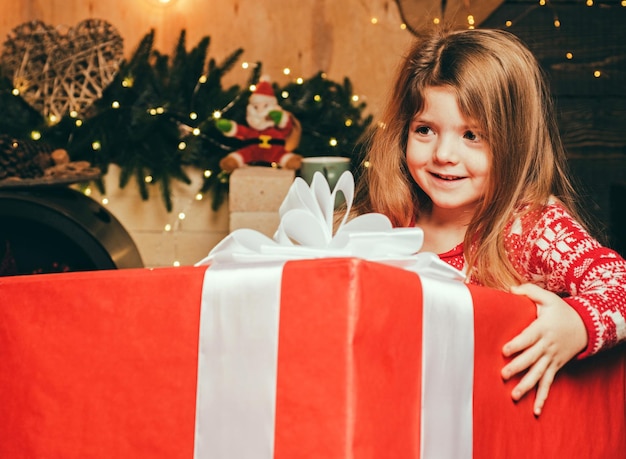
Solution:
M 424 251 L 468 282 L 526 295 L 537 319 L 506 343 L 512 392 L 626 340 L 626 261 L 583 226 L 550 94 L 531 52 L 501 30 L 437 32 L 402 61 L 368 141 L 356 213 L 424 230 Z

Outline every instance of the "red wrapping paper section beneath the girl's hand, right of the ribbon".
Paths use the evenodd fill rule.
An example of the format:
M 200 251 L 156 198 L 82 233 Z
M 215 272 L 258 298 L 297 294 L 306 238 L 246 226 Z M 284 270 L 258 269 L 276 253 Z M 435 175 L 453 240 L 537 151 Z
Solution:
M 474 457 L 618 458 L 626 451 L 624 346 L 574 361 L 556 376 L 539 418 L 534 392 L 518 403 L 519 378 L 498 381 L 500 350 L 535 317 L 508 293 L 470 286 L 474 300 Z

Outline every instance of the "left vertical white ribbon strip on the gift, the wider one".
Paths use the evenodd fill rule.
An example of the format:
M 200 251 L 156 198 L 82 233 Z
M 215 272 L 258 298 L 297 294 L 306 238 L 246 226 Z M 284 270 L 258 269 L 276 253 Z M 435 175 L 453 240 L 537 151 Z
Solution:
M 200 310 L 196 459 L 274 455 L 282 268 L 282 263 L 260 263 L 207 270 Z

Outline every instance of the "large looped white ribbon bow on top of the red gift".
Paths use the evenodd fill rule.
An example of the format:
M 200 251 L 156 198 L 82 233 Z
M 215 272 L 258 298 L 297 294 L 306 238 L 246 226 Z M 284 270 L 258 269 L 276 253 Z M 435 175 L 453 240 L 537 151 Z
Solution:
M 341 192 L 346 211 L 333 236 L 335 198 Z M 330 191 L 316 172 L 309 187 L 296 177 L 279 209 L 273 239 L 252 229 L 237 229 L 217 244 L 203 264 L 287 261 L 355 257 L 403 267 L 420 275 L 463 280 L 465 275 L 430 252 L 418 253 L 424 241 L 420 228 L 393 228 L 383 214 L 368 213 L 348 221 L 354 199 L 354 178 L 344 172 Z

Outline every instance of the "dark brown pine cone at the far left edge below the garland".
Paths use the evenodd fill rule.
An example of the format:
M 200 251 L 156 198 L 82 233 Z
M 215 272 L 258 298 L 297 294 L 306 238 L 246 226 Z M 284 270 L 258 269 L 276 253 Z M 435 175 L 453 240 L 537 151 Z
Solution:
M 54 164 L 51 153 L 52 148 L 42 142 L 0 135 L 0 180 L 43 176 Z

